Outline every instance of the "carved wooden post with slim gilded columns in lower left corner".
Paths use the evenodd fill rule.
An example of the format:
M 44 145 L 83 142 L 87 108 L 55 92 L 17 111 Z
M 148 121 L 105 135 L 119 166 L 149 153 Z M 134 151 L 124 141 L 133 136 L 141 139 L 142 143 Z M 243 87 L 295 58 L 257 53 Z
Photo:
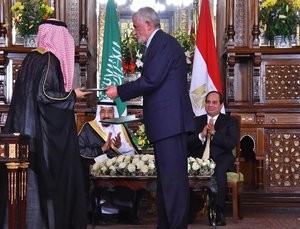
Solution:
M 4 164 L 7 170 L 6 191 L 3 189 L 1 191 L 7 194 L 7 222 L 8 228 L 11 229 L 25 229 L 28 154 L 28 136 L 16 134 L 0 135 L 0 166 Z M 6 179 L 3 177 L 3 174 L 1 175 L 1 179 Z M 5 220 L 3 218 L 4 215 L 4 212 L 1 212 L 0 220 Z M 0 225 L 3 225 L 3 222 L 0 222 Z

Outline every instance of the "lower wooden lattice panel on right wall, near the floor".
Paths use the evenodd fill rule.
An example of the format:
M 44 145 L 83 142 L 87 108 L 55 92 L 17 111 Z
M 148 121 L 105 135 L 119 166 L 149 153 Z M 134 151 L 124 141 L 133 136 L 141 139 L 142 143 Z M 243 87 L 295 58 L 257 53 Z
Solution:
M 300 187 L 300 133 L 270 133 L 270 187 Z

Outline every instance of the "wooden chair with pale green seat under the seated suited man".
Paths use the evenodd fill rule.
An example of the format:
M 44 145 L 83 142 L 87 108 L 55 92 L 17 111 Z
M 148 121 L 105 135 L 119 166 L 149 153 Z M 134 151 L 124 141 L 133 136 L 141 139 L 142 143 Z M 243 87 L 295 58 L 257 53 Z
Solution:
M 241 117 L 238 115 L 232 115 L 233 118 L 236 119 L 239 125 L 241 124 Z M 240 132 L 238 137 L 238 142 L 233 150 L 233 154 L 236 157 L 236 172 L 228 172 L 227 173 L 227 187 L 229 189 L 228 195 L 231 196 L 232 199 L 232 217 L 233 221 L 237 222 L 239 219 L 242 219 L 241 214 L 241 200 L 240 194 L 243 191 L 243 183 L 244 183 L 244 175 L 240 172 Z

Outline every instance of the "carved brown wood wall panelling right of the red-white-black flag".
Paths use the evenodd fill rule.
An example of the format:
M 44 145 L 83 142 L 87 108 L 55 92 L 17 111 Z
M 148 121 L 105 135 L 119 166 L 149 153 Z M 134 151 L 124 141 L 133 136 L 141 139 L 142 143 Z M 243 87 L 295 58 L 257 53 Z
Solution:
M 241 163 L 255 168 L 245 177 L 252 189 L 299 192 L 300 46 L 259 46 L 259 7 L 226 1 L 225 107 L 241 116 L 241 138 L 253 140 L 255 164 Z

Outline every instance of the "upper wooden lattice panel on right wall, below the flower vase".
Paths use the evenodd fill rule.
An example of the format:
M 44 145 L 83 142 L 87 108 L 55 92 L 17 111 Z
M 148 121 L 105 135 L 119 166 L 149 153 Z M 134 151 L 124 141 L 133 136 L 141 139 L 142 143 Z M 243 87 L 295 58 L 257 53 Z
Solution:
M 300 99 L 300 65 L 266 65 L 266 100 Z

